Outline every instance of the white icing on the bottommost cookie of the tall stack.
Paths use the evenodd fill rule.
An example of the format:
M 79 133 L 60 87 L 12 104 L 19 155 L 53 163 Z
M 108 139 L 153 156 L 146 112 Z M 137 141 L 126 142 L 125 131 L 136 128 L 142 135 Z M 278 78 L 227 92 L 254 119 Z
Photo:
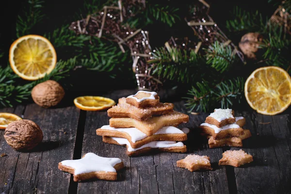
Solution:
M 129 141 L 125 138 L 120 138 L 120 137 L 111 137 L 111 138 L 113 140 L 115 140 L 120 145 L 127 145 L 129 152 L 137 151 L 137 150 L 143 149 L 145 147 L 164 148 L 164 147 L 182 147 L 182 146 L 184 146 L 184 144 L 182 142 L 176 143 L 175 141 L 153 141 L 153 142 L 145 144 L 144 146 L 141 146 L 139 148 L 134 149 L 130 146 Z

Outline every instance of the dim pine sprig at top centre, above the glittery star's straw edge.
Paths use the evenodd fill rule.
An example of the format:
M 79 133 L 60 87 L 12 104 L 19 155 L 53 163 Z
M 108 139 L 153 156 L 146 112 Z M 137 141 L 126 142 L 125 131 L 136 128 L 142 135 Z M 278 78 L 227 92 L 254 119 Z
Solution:
M 129 26 L 136 29 L 143 28 L 148 24 L 160 21 L 172 27 L 179 19 L 177 15 L 178 8 L 170 7 L 169 5 L 161 4 L 146 4 L 145 10 L 133 10 L 133 13 L 138 13 L 135 17 L 127 19 Z

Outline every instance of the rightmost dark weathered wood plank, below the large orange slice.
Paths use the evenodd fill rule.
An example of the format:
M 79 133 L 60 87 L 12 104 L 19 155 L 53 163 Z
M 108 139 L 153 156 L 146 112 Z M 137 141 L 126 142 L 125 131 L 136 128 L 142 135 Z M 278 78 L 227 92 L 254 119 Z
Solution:
M 254 162 L 234 168 L 238 193 L 289 193 L 291 191 L 291 135 L 289 115 L 243 113 L 252 137 L 243 150 Z M 237 149 L 237 148 L 232 148 Z

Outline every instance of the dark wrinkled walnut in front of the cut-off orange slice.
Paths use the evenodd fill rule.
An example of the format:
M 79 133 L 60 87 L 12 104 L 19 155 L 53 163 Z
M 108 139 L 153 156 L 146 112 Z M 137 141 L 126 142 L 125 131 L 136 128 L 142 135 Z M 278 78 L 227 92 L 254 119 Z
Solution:
M 43 140 L 42 130 L 31 120 L 10 123 L 4 132 L 7 144 L 18 151 L 27 151 Z

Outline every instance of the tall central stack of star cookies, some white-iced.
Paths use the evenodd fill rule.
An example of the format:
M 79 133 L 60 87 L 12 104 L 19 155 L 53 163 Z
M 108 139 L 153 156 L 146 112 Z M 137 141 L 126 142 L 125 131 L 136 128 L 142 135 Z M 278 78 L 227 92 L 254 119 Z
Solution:
M 176 128 L 189 121 L 189 116 L 173 110 L 172 103 L 161 103 L 156 92 L 138 91 L 123 97 L 107 111 L 109 125 L 96 130 L 103 142 L 127 146 L 129 156 L 158 149 L 165 152 L 186 152 L 188 128 Z

